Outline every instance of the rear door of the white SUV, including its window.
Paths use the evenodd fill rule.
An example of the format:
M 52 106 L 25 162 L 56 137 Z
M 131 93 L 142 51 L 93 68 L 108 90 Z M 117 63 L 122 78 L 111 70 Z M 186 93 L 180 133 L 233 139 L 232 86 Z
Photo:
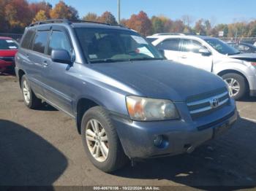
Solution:
M 168 60 L 179 62 L 181 56 L 181 39 L 165 39 L 157 44 L 157 49 L 163 50 Z

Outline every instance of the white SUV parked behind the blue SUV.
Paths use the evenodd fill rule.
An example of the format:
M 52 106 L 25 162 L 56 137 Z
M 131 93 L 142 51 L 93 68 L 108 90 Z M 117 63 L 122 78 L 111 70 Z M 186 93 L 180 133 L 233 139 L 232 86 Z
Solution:
M 178 63 L 211 71 L 229 85 L 236 100 L 256 95 L 256 55 L 241 54 L 219 39 L 208 36 L 148 36 L 165 57 Z M 154 40 L 151 40 L 154 39 Z

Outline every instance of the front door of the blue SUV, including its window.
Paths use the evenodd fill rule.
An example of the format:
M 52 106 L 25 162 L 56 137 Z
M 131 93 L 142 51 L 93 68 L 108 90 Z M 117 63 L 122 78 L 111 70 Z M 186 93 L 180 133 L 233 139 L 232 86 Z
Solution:
M 45 59 L 47 66 L 43 74 L 43 81 L 46 85 L 45 98 L 50 104 L 57 106 L 67 114 L 72 115 L 72 100 L 74 91 L 72 90 L 73 67 L 65 63 L 53 62 L 50 59 L 52 50 L 67 50 L 70 55 L 73 53 L 73 47 L 68 32 L 61 26 L 53 26 L 48 43 Z

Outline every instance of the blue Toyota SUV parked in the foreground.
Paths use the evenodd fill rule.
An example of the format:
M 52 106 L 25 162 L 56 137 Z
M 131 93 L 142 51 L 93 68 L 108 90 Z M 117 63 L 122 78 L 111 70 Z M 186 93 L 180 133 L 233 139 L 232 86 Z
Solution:
M 102 171 L 192 152 L 237 119 L 220 77 L 165 60 L 123 26 L 33 23 L 15 62 L 26 106 L 47 102 L 74 118 L 89 160 Z

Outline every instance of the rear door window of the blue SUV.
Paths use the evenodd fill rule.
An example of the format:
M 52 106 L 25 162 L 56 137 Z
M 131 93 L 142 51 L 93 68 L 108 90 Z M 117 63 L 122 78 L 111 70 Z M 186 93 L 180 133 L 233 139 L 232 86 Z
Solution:
M 47 44 L 49 31 L 37 31 L 36 37 L 34 39 L 33 50 L 44 53 L 45 46 Z

